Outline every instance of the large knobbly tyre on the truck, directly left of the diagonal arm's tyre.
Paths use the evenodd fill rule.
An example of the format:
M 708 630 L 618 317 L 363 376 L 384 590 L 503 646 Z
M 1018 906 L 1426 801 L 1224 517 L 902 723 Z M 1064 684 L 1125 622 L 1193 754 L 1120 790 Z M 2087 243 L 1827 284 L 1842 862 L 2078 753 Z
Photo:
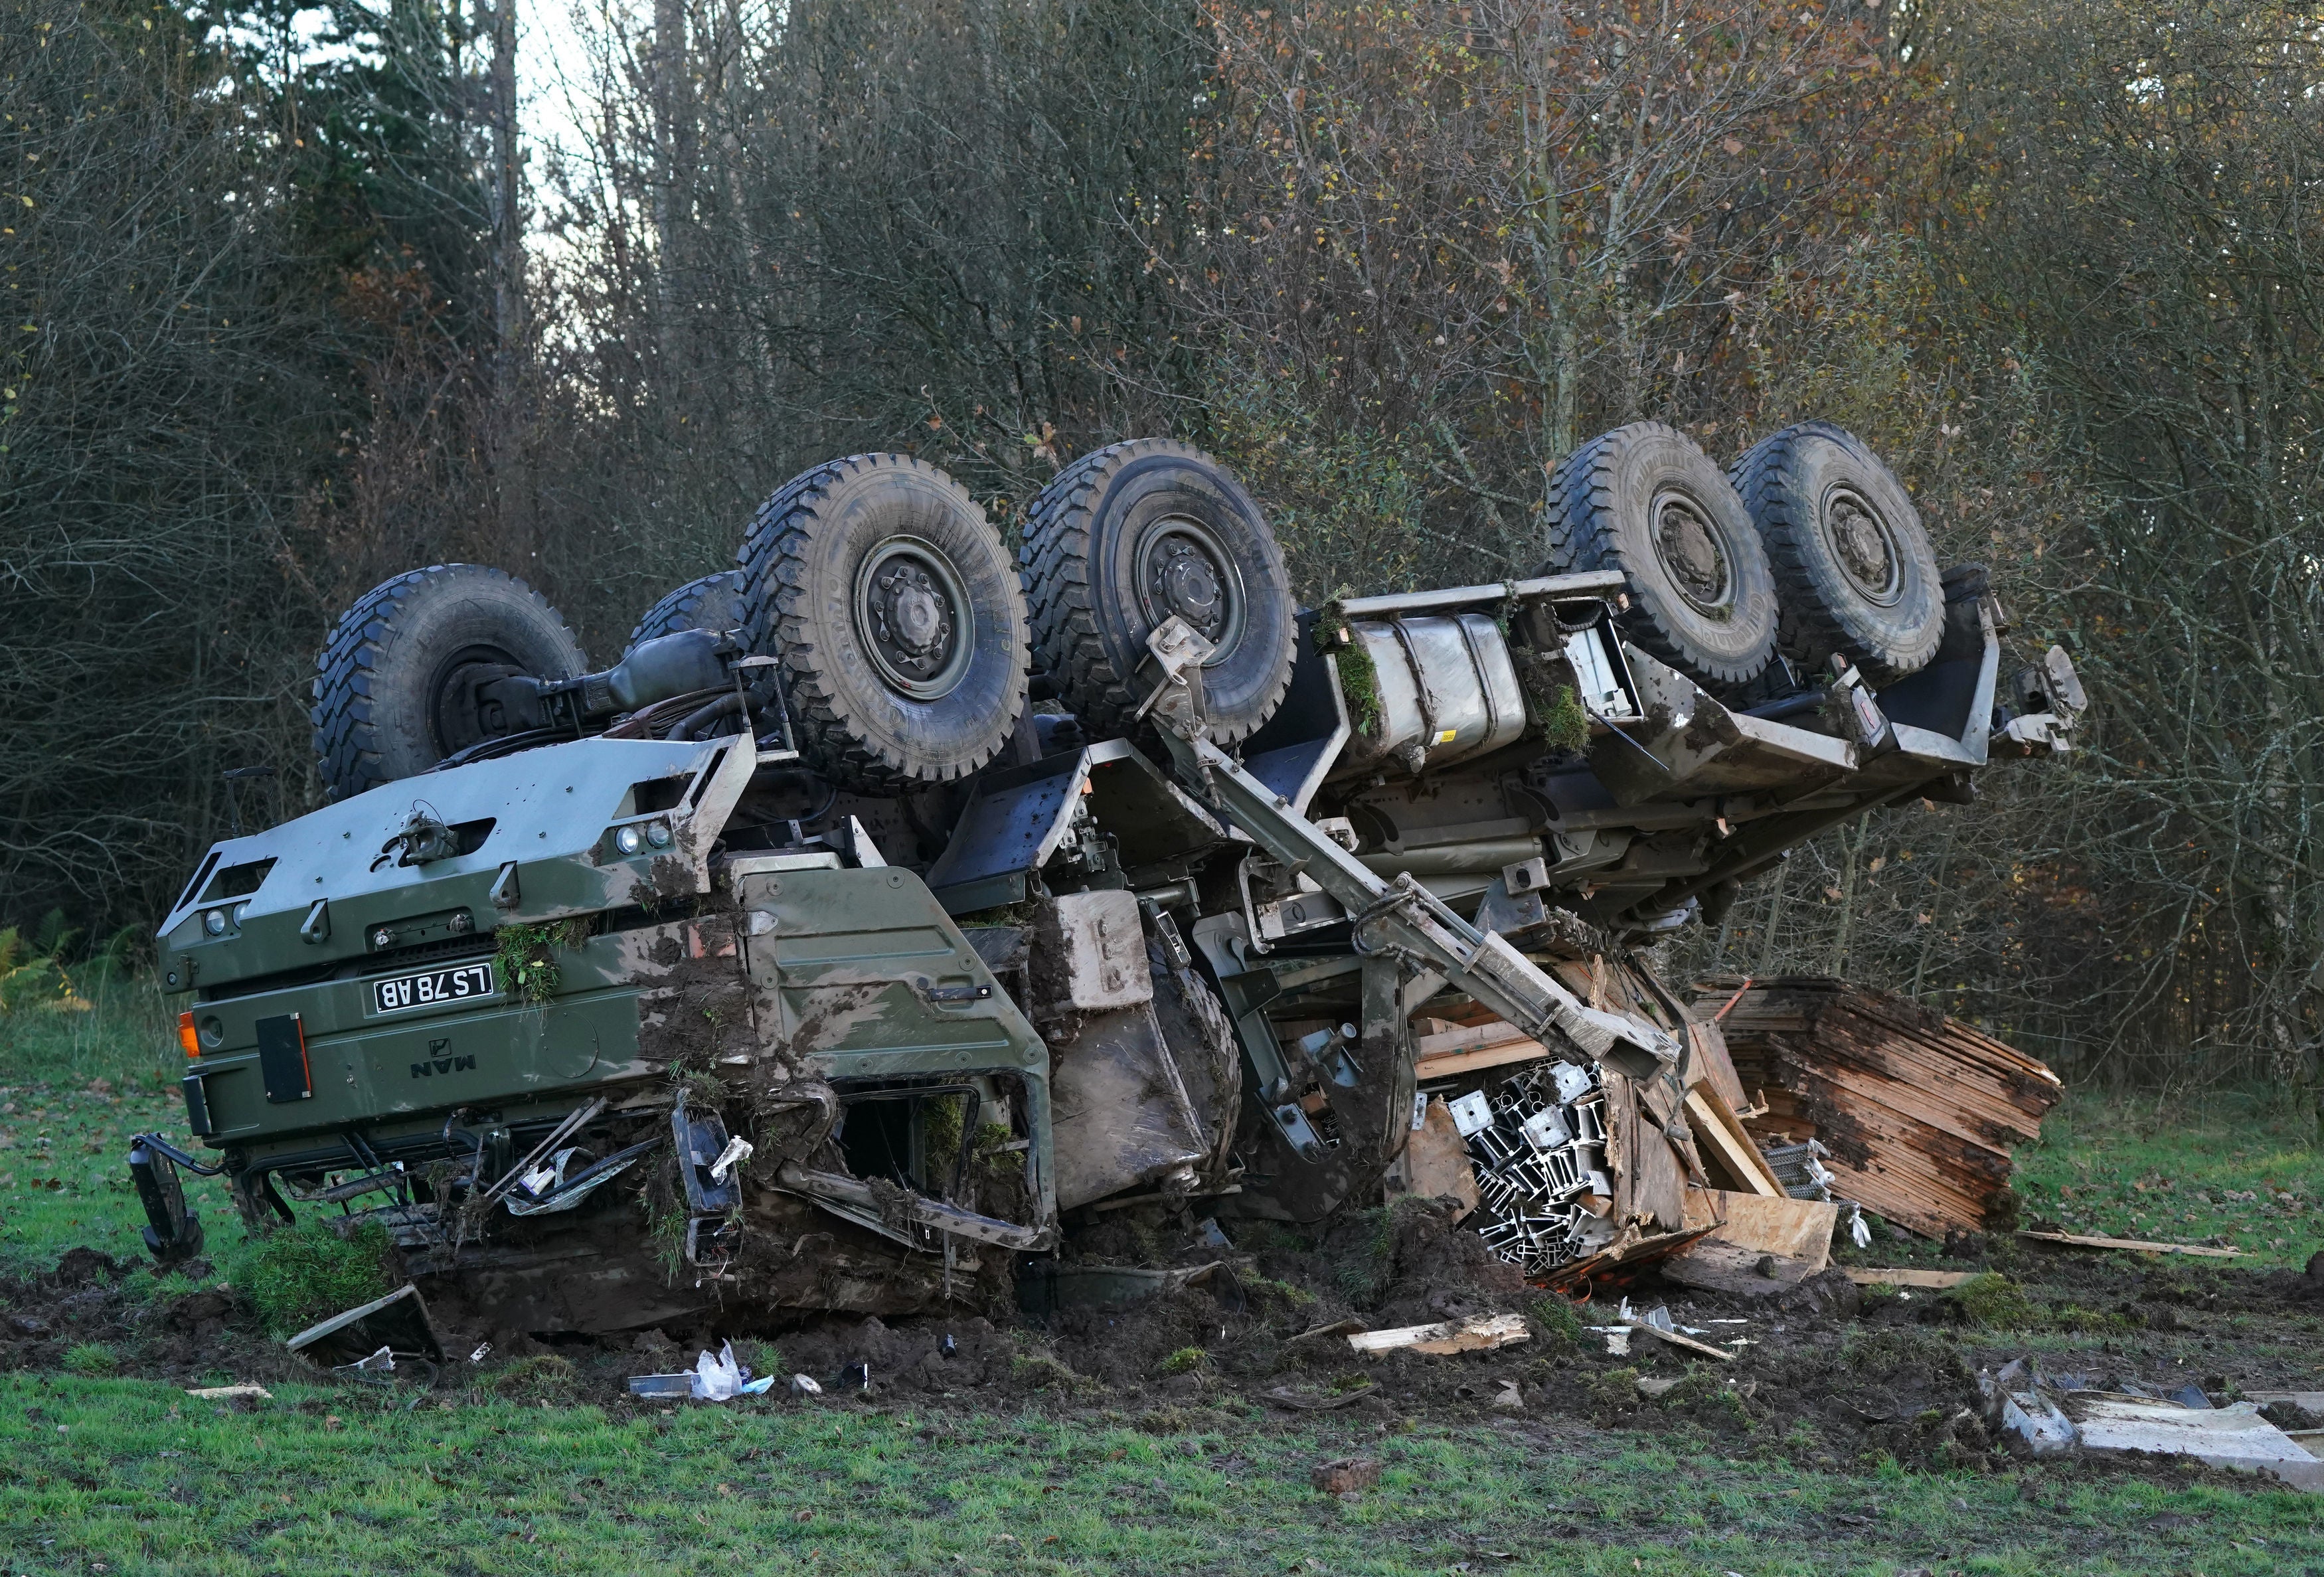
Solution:
M 783 485 L 741 543 L 755 650 L 781 657 L 799 755 L 841 787 L 962 778 L 1025 706 L 1025 595 L 976 499 L 909 455 Z

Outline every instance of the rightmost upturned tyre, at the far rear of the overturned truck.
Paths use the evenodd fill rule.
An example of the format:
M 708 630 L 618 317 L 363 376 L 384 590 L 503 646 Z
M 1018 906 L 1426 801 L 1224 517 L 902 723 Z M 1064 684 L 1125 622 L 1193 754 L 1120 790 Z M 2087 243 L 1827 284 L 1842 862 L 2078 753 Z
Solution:
M 1778 641 L 1801 674 L 1834 653 L 1873 685 L 1917 674 L 1945 634 L 1945 588 L 1913 495 L 1831 423 L 1752 444 L 1729 471 L 1783 592 Z

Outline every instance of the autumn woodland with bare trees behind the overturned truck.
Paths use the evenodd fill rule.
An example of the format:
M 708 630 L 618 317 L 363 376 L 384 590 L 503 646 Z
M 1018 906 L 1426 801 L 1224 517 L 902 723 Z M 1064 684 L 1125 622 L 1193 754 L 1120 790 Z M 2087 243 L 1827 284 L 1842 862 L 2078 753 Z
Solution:
M 151 924 L 221 771 L 311 804 L 314 653 L 409 564 L 502 564 L 609 662 L 816 460 L 920 453 L 1013 530 L 1171 432 L 1313 599 L 1529 571 L 1545 467 L 1622 420 L 1729 460 L 1824 416 L 2096 713 L 1671 964 L 1845 968 L 2078 1078 L 2315 1078 L 2305 9 L 565 5 L 0 0 L 19 952 Z M 586 60 L 525 84 L 555 146 L 518 23 Z

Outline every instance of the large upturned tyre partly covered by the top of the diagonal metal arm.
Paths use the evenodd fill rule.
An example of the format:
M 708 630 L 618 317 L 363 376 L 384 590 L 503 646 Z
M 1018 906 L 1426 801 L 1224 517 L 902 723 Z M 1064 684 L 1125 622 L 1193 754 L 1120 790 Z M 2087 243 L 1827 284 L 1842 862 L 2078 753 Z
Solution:
M 1227 467 L 1171 439 L 1132 439 L 1064 467 L 1025 523 L 1034 650 L 1090 739 L 1146 699 L 1146 636 L 1171 613 L 1218 650 L 1202 685 L 1211 736 L 1246 739 L 1292 678 L 1297 609 L 1283 548 Z

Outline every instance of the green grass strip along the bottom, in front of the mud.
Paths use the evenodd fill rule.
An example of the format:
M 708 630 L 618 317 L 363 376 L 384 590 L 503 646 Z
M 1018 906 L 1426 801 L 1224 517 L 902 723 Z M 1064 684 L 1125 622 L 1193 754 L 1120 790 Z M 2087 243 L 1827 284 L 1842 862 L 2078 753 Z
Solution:
M 1948 1572 L 2315 1570 L 2291 1491 L 1801 1472 L 1566 1428 L 1155 1438 L 1039 1414 L 423 1405 L 0 1380 L 12 1572 Z M 1383 1466 L 1360 1500 L 1318 1461 Z M 1850 1519 L 1850 1521 L 1843 1521 Z M 1982 1551 L 1982 1554 L 1968 1554 Z

